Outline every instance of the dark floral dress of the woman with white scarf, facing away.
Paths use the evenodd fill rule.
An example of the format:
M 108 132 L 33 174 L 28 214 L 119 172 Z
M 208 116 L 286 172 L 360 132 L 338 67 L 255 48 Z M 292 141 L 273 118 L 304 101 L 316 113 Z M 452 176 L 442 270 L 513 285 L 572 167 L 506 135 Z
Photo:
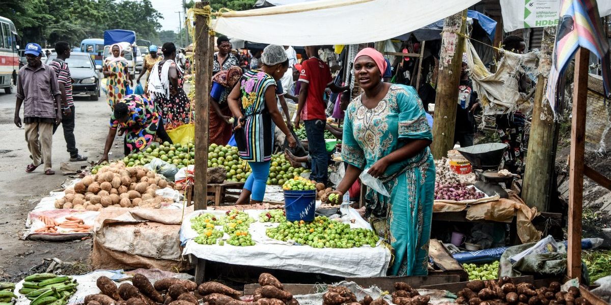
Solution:
M 176 63 L 170 63 L 171 66 L 176 67 Z M 158 65 L 159 69 L 157 73 L 159 73 L 159 77 L 161 77 L 161 66 Z M 183 124 L 191 123 L 191 117 L 189 116 L 189 110 L 191 109 L 191 101 L 187 98 L 185 90 L 183 90 L 183 84 L 185 81 L 183 80 L 183 72 L 180 69 L 176 69 L 178 72 L 178 88 L 176 89 L 176 94 L 170 94 L 167 98 L 164 96 L 158 95 L 155 98 L 155 104 L 159 106 L 161 109 L 161 117 L 163 118 L 163 126 L 166 131 L 170 129 L 174 129 Z M 170 82 L 170 86 L 172 82 Z

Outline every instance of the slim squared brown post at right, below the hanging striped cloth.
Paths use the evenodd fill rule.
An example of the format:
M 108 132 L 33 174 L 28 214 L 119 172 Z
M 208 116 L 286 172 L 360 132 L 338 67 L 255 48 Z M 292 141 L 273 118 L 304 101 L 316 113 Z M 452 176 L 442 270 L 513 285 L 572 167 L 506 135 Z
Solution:
M 590 51 L 579 48 L 575 56 L 571 156 L 569 159 L 569 221 L 567 275 L 581 277 L 581 222 L 584 204 L 585 111 L 588 95 Z

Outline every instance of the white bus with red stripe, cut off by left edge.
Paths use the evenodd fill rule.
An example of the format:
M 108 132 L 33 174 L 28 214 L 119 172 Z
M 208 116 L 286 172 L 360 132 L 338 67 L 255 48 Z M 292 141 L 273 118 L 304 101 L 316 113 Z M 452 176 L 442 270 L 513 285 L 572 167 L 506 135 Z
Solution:
M 5 93 L 12 93 L 13 84 L 17 83 L 19 54 L 16 35 L 13 21 L 0 16 L 0 88 L 4 88 Z

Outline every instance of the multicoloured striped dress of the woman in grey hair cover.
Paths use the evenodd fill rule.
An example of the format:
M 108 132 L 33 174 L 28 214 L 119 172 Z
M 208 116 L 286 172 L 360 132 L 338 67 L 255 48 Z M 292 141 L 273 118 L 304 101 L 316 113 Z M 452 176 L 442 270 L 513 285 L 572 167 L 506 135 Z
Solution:
M 265 104 L 265 91 L 276 81 L 260 70 L 249 70 L 240 79 L 240 107 L 246 123 L 235 132 L 240 157 L 247 161 L 271 160 L 274 147 L 274 122 Z

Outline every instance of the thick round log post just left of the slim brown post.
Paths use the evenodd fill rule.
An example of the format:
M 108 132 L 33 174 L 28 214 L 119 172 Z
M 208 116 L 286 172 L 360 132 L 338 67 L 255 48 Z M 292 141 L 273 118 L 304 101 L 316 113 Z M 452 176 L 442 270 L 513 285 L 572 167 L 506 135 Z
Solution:
M 541 41 L 539 76 L 536 84 L 535 103 L 533 104 L 532 126 L 530 126 L 529 153 L 526 156 L 526 169 L 522 188 L 522 199 L 529 207 L 546 212 L 551 195 L 551 182 L 554 176 L 554 157 L 557 142 L 554 113 L 549 101 L 544 98 L 547 75 L 552 63 L 556 28 L 546 27 Z

